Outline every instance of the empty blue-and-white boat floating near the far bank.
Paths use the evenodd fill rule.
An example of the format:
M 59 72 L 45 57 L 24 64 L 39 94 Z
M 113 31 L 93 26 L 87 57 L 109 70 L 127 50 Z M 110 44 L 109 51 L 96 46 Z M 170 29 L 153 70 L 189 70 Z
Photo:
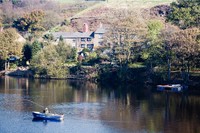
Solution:
M 157 85 L 158 91 L 166 91 L 166 92 L 181 92 L 186 87 L 181 84 L 168 84 L 168 85 Z

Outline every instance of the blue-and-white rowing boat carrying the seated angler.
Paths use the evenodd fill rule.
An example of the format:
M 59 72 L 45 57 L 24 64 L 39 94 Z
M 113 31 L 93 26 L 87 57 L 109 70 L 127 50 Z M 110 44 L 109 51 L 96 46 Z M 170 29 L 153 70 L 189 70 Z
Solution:
M 36 112 L 36 111 L 33 111 L 32 114 L 33 114 L 34 119 L 52 120 L 52 121 L 64 120 L 63 114 L 41 113 L 41 112 Z

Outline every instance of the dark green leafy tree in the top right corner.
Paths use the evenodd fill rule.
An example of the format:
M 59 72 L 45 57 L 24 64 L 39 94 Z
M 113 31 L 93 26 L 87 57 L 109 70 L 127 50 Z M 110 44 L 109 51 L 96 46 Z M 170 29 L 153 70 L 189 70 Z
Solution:
M 200 2 L 198 0 L 173 2 L 167 20 L 182 29 L 200 27 Z

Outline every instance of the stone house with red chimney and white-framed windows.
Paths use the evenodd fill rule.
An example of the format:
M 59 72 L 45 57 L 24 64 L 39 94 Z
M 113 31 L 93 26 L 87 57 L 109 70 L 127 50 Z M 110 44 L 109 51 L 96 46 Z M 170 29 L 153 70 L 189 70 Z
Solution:
M 89 31 L 88 29 L 88 25 L 84 24 L 83 32 L 54 32 L 52 34 L 56 42 L 62 38 L 71 46 L 76 47 L 78 51 L 84 48 L 92 51 L 103 45 L 103 35 L 106 30 L 102 25 L 96 31 Z

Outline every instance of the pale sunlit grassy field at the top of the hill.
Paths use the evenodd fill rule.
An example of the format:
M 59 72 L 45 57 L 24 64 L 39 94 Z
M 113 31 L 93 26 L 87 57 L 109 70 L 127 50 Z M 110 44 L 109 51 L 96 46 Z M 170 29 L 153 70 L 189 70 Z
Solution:
M 85 0 L 54 0 L 65 4 L 77 4 L 82 3 L 83 5 L 89 4 L 89 6 L 78 12 L 74 17 L 82 17 L 84 15 L 90 14 L 91 11 L 104 9 L 140 9 L 140 8 L 151 8 L 156 5 L 169 5 L 175 0 L 106 0 L 101 2 L 95 1 L 85 1 Z M 105 12 L 105 11 L 104 11 Z M 97 14 L 98 15 L 98 14 Z

